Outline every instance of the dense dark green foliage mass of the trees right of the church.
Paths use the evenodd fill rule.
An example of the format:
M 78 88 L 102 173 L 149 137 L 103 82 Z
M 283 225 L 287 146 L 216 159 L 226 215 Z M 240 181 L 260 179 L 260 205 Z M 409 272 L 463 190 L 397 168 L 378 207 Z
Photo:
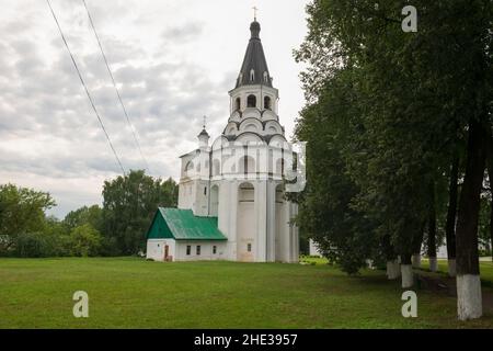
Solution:
M 492 2 L 413 5 L 419 31 L 404 33 L 403 3 L 313 0 L 295 53 L 308 64 L 298 224 L 349 273 L 366 258 L 410 260 L 432 208 L 442 239 L 450 161 L 471 118 L 491 115 Z

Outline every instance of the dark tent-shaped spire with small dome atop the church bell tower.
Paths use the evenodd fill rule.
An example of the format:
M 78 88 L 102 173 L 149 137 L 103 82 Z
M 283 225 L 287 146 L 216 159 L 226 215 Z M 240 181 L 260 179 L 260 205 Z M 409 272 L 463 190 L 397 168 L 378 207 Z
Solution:
M 249 46 L 246 47 L 246 53 L 244 54 L 243 65 L 241 65 L 236 88 L 252 84 L 264 84 L 272 88 L 272 78 L 268 72 L 264 48 L 262 47 L 262 42 L 260 39 L 260 23 L 254 20 L 252 24 L 250 24 L 250 32 L 252 35 L 250 37 Z

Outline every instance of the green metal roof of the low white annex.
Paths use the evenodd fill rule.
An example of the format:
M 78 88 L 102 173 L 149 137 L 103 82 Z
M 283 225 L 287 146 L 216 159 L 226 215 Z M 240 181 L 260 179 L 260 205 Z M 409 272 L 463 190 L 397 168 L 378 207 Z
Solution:
M 148 239 L 227 240 L 217 228 L 217 217 L 197 217 L 192 210 L 163 208 L 156 212 Z

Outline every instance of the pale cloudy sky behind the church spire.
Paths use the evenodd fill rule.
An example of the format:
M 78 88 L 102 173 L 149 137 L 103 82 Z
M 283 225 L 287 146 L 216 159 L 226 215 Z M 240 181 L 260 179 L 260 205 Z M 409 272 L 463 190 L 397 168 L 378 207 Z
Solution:
M 128 115 L 154 177 L 177 180 L 203 115 L 226 125 L 256 5 L 279 116 L 291 136 L 303 105 L 293 49 L 308 0 L 87 0 Z M 145 165 L 126 124 L 82 0 L 51 0 L 125 169 Z M 50 192 L 62 217 L 101 203 L 121 173 L 45 0 L 0 0 L 0 183 Z

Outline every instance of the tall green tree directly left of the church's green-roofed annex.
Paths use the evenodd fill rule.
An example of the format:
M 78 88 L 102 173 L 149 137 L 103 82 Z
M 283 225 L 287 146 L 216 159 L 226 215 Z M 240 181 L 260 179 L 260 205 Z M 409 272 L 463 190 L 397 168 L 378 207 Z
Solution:
M 103 186 L 103 233 L 105 247 L 117 254 L 136 254 L 144 250 L 145 236 L 158 206 L 175 207 L 177 185 L 131 171 L 105 181 Z

